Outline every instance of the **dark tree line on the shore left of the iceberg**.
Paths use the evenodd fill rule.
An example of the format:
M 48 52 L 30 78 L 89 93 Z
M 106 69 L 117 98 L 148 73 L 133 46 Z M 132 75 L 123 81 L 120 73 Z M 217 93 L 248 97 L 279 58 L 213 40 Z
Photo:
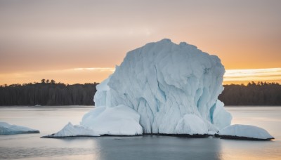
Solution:
M 0 105 L 93 105 L 93 84 L 63 84 L 52 79 L 41 83 L 0 86 Z

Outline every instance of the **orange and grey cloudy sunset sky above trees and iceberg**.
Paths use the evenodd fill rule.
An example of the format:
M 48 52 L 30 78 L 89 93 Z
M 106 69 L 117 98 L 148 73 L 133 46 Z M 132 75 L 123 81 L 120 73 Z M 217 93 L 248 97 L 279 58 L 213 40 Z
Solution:
M 281 81 L 281 1 L 0 0 L 0 85 L 103 81 L 128 51 L 185 41 L 224 83 Z

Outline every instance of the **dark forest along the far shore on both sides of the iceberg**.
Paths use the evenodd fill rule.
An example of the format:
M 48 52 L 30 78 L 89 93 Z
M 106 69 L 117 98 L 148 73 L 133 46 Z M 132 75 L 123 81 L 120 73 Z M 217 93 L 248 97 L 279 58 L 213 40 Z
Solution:
M 52 79 L 42 79 L 33 84 L 12 84 L 0 86 L 0 105 L 94 105 L 93 84 L 63 84 Z M 226 106 L 279 105 L 281 106 L 281 85 L 277 83 L 251 82 L 247 85 L 224 85 L 218 99 Z

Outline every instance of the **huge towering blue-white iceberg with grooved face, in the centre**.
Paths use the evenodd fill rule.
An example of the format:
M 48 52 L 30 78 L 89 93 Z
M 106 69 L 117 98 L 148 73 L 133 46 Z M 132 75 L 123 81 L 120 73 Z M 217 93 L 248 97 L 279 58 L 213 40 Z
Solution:
M 232 119 L 218 100 L 224 73 L 216 55 L 196 46 L 146 44 L 97 86 L 96 108 L 80 126 L 98 135 L 214 134 Z

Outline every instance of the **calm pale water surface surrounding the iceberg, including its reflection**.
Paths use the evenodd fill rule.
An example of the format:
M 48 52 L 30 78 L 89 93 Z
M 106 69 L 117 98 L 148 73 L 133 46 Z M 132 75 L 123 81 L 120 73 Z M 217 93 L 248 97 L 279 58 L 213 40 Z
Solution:
M 156 135 L 39 138 L 68 121 L 79 124 L 90 107 L 0 107 L 0 121 L 40 134 L 0 135 L 0 159 L 281 159 L 281 107 L 227 107 L 233 124 L 265 128 L 273 141 L 176 138 Z

